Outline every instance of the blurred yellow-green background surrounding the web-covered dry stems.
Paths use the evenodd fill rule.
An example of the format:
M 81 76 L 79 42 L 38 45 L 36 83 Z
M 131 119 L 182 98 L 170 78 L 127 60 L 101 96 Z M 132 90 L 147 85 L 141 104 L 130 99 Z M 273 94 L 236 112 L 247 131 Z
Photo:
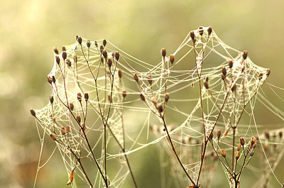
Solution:
M 268 82 L 284 88 L 283 7 L 282 0 L 1 1 L 0 187 L 33 186 L 40 142 L 29 109 L 48 103 L 46 75 L 53 67 L 54 46 L 75 43 L 75 35 L 107 38 L 138 59 L 159 62 L 160 48 L 173 52 L 189 31 L 212 26 L 224 43 L 248 50 L 253 62 L 270 68 Z M 283 101 L 274 101 L 273 92 L 266 94 L 283 109 Z M 266 109 L 256 114 L 263 124 L 279 123 Z M 45 159 L 54 148 L 46 144 Z M 160 187 L 160 175 L 148 179 L 153 170 L 143 165 L 158 164 L 157 153 L 153 148 L 153 155 L 141 160 L 145 169 L 136 172 L 140 187 Z M 278 178 L 284 182 L 279 168 Z M 66 182 L 62 160 L 54 156 L 40 170 L 37 187 L 63 187 Z M 228 187 L 225 179 L 214 184 Z

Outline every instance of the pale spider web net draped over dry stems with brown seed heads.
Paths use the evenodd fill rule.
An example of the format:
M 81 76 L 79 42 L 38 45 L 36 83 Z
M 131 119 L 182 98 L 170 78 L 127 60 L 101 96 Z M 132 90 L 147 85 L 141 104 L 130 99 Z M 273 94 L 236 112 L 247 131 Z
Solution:
M 63 50 L 55 52 L 48 74 L 50 103 L 35 110 L 35 117 L 44 131 L 39 131 L 42 147 L 45 135 L 55 141 L 72 187 L 77 187 L 73 175 L 90 187 L 124 187 L 126 180 L 136 187 L 135 161 L 127 156 L 150 145 L 158 145 L 160 164 L 169 161 L 175 177 L 162 178 L 162 187 L 209 187 L 218 164 L 230 187 L 239 184 L 244 167 L 260 177 L 256 187 L 267 186 L 271 177 L 279 182 L 274 170 L 283 155 L 282 130 L 265 132 L 253 114 L 261 101 L 283 119 L 261 93 L 270 70 L 224 44 L 212 28 L 189 33 L 172 55 L 162 49 L 157 65 L 107 40 L 77 37 Z M 241 150 L 239 138 L 246 141 Z M 249 165 L 253 138 L 265 163 L 261 170 Z M 39 162 L 38 171 L 44 165 Z

